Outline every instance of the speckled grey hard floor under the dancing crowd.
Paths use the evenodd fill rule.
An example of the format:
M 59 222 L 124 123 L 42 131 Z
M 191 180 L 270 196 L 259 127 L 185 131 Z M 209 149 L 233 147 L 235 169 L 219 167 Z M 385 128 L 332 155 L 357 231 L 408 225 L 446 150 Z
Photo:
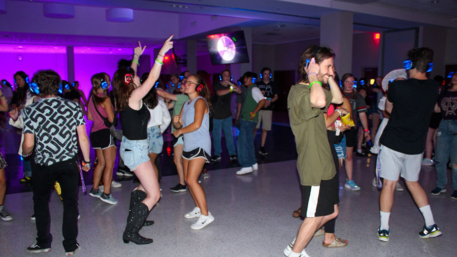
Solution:
M 177 176 L 164 176 L 161 181 L 163 197 L 149 215 L 155 224 L 140 232 L 154 239 L 150 245 L 124 244 L 121 239 L 129 192 L 137 184 L 122 181 L 121 188 L 113 188 L 113 196 L 119 200 L 116 205 L 83 194 L 80 187 L 82 217 L 78 223 L 78 242 L 82 249 L 77 256 L 283 256 L 282 250 L 295 237 L 302 222 L 291 215 L 300 205 L 300 186 L 290 129 L 274 125 L 270 136 L 273 139 L 266 147 L 270 155 L 259 158 L 259 170 L 252 174 L 237 176 L 238 168 L 234 167 L 237 165 L 226 161 L 219 166 L 208 166 L 211 176 L 208 180 L 202 179 L 202 185 L 215 221 L 203 230 L 191 230 L 194 219 L 183 217 L 193 208 L 189 193 L 176 194 L 168 190 L 176 184 Z M 257 144 L 259 138 L 257 135 Z M 5 139 L 2 142 L 5 151 Z M 165 151 L 161 160 L 162 170 L 169 170 L 171 153 Z M 9 162 L 8 179 L 19 179 L 20 159 L 9 159 Z M 449 198 L 451 191 L 438 197 L 429 196 L 435 221 L 443 236 L 419 238 L 423 219 L 405 190 L 395 192 L 394 209 L 390 215 L 390 241 L 385 243 L 377 239 L 379 191 L 371 185 L 374 164 L 375 156 L 354 157 L 354 180 L 361 186 L 361 191 L 344 188 L 344 170 L 340 173 L 340 216 L 336 222 L 336 234 L 349 240 L 349 245 L 325 248 L 321 245 L 322 237 L 314 238 L 307 247 L 308 253 L 313 257 L 457 256 L 457 201 Z M 13 166 L 16 170 L 12 169 Z M 91 175 L 86 174 L 86 182 L 90 180 Z M 435 168 L 422 167 L 419 181 L 430 192 L 435 186 Z M 10 194 L 6 196 L 6 209 L 13 215 L 13 220 L 0 220 L 0 256 L 28 256 L 25 248 L 35 243 L 36 238 L 35 223 L 30 220 L 32 193 L 16 182 L 10 182 L 10 187 L 25 192 L 12 194 L 14 190 L 9 189 Z M 450 182 L 448 188 L 451 188 Z M 54 243 L 50 253 L 40 256 L 63 256 L 62 205 L 55 193 L 51 197 L 50 209 Z

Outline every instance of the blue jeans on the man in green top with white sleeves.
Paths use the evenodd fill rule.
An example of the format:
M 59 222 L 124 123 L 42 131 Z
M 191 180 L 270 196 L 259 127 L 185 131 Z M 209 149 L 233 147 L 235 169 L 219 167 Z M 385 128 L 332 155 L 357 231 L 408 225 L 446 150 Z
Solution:
M 250 167 L 257 163 L 254 149 L 254 128 L 257 122 L 241 121 L 240 135 L 238 136 L 238 163 L 242 167 Z

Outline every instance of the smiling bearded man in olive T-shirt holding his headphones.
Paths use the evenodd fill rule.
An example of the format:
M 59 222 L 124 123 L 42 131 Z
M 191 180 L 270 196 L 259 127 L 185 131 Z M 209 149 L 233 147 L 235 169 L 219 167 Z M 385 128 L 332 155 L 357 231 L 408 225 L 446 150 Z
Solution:
M 339 178 L 324 118 L 330 104 L 343 103 L 343 96 L 333 78 L 334 58 L 330 48 L 308 48 L 300 57 L 298 72 L 301 79 L 290 88 L 287 97 L 290 127 L 298 152 L 301 215 L 305 217 L 297 237 L 283 251 L 289 257 L 309 257 L 305 247 L 314 233 L 338 215 Z M 330 90 L 322 84 L 329 84 Z

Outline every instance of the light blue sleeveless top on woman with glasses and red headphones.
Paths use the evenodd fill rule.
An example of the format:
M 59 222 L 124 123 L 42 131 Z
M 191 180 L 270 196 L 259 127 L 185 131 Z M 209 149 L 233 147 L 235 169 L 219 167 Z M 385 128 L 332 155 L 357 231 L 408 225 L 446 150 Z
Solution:
M 202 97 L 195 98 L 192 102 L 187 100 L 184 105 L 182 106 L 183 111 L 182 111 L 182 127 L 186 127 L 190 125 L 195 118 L 195 102 L 201 98 L 205 100 Z M 206 103 L 206 100 L 205 100 Z M 207 103 L 208 106 L 208 103 Z M 183 151 L 185 152 L 190 152 L 194 149 L 197 148 L 202 148 L 205 150 L 206 153 L 211 155 L 211 136 L 209 134 L 209 108 L 208 108 L 208 113 L 205 113 L 203 115 L 203 120 L 202 120 L 202 125 L 199 127 L 198 130 L 190 133 L 183 134 L 184 136 L 184 146 L 183 146 Z

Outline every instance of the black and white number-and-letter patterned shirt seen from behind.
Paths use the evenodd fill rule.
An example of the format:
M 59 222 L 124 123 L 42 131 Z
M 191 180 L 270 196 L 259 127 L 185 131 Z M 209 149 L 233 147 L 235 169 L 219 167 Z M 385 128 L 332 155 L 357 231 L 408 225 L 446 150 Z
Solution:
M 60 97 L 24 108 L 24 134 L 35 135 L 35 162 L 50 166 L 78 154 L 76 127 L 85 124 L 81 107 Z

